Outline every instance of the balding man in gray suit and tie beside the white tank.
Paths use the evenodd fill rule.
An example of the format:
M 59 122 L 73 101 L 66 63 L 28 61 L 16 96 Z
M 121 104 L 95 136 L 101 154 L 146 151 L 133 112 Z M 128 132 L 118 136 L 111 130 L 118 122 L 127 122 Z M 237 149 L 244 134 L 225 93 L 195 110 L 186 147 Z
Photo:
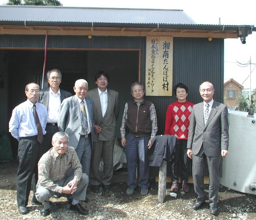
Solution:
M 187 155 L 192 159 L 194 190 L 198 195 L 192 205 L 197 210 L 205 203 L 204 164 L 209 170 L 210 214 L 217 215 L 220 186 L 220 158 L 228 154 L 228 110 L 227 106 L 213 100 L 214 87 L 203 82 L 199 87 L 204 102 L 193 106 L 188 132 Z

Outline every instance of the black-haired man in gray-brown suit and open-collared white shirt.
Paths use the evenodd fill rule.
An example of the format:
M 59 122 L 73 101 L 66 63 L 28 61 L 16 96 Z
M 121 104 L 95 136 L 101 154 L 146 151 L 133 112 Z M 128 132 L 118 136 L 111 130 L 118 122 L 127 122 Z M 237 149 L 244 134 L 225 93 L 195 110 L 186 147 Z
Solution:
M 109 76 L 100 71 L 95 75 L 98 88 L 88 91 L 87 96 L 94 101 L 94 139 L 90 166 L 90 183 L 92 191 L 99 193 L 100 184 L 104 192 L 110 192 L 113 176 L 113 151 L 116 138 L 116 120 L 119 114 L 118 92 L 107 89 Z M 104 168 L 100 176 L 100 158 L 103 158 Z

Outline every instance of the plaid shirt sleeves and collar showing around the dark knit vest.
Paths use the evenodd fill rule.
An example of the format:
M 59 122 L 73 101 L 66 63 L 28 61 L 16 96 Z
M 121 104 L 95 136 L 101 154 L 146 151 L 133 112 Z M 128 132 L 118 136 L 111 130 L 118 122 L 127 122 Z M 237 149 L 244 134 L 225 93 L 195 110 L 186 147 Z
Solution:
M 141 102 L 136 102 L 135 100 L 134 101 L 136 102 L 136 104 L 138 106 L 140 106 L 140 104 L 143 102 L 143 100 Z M 126 119 L 127 119 L 127 110 L 128 110 L 128 104 L 126 102 L 126 104 L 124 106 L 124 115 L 123 115 L 123 118 L 122 118 L 122 125 L 121 125 L 121 128 L 120 128 L 121 138 L 125 138 L 125 135 L 126 135 L 125 122 L 126 122 Z M 152 124 L 150 137 L 154 138 L 156 136 L 156 132 L 158 130 L 158 127 L 157 127 L 156 109 L 155 109 L 155 106 L 154 106 L 153 103 L 150 106 L 150 120 L 151 120 L 151 124 Z

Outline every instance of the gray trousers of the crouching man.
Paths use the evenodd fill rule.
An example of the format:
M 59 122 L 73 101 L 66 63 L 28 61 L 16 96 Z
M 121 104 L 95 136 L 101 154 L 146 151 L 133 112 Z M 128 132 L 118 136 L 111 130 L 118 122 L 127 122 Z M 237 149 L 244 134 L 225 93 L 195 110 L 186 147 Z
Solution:
M 59 186 L 66 186 L 68 182 L 74 179 L 74 176 L 66 176 L 63 180 L 54 182 L 54 184 L 58 184 Z M 70 195 L 75 200 L 85 200 L 86 199 L 86 190 L 88 186 L 89 178 L 87 174 L 83 173 L 82 179 L 77 184 L 77 189 L 74 194 Z M 38 202 L 42 202 L 45 209 L 50 208 L 50 198 L 55 195 L 56 192 L 50 191 L 40 184 L 36 185 L 36 199 Z M 69 194 L 67 194 L 69 195 Z

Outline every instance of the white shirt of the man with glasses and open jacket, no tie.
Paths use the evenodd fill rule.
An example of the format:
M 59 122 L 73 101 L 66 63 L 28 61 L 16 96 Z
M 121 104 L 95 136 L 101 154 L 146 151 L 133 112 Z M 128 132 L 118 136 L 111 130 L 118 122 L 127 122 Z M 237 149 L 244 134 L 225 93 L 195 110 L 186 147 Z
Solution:
M 58 110 L 60 108 L 60 89 L 55 94 L 52 89 L 49 90 L 49 102 L 47 110 L 47 123 L 58 122 Z

